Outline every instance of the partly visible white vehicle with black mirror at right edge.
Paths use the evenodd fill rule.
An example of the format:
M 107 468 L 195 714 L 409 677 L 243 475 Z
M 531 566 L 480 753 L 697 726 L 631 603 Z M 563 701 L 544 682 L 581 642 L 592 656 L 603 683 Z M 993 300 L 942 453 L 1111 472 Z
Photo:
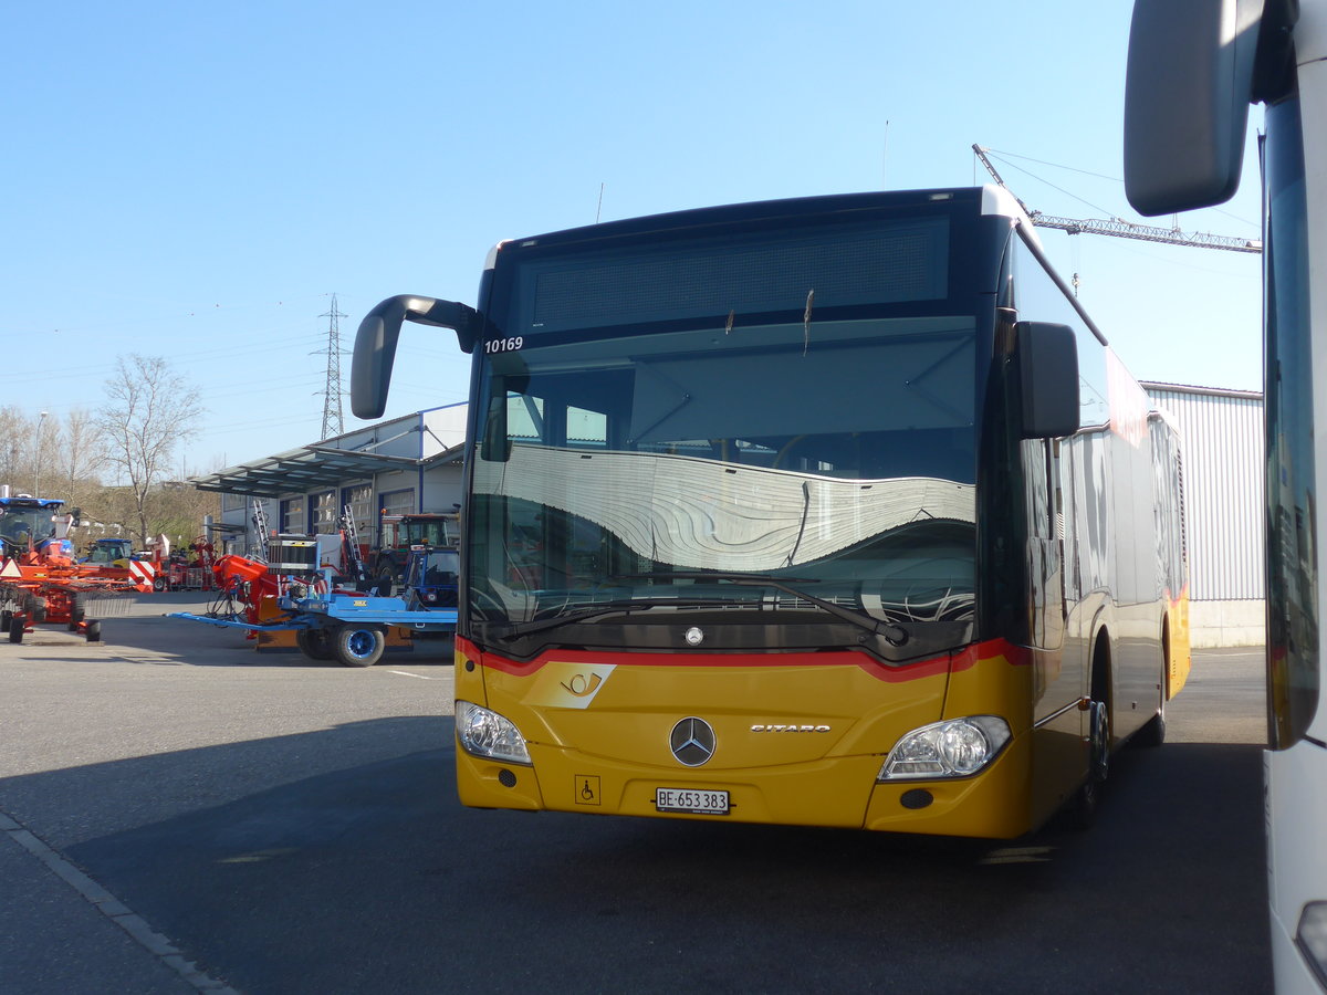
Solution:
M 1266 103 L 1267 884 L 1278 992 L 1327 991 L 1327 0 L 1137 0 L 1124 165 L 1157 215 L 1230 198 Z

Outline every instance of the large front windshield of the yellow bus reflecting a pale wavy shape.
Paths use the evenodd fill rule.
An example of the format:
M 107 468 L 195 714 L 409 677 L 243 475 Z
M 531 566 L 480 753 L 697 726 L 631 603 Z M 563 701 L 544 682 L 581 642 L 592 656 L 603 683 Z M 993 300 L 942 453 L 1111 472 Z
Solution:
M 882 621 L 971 618 L 971 316 L 600 329 L 483 361 L 476 620 L 661 596 L 811 609 L 709 574 Z

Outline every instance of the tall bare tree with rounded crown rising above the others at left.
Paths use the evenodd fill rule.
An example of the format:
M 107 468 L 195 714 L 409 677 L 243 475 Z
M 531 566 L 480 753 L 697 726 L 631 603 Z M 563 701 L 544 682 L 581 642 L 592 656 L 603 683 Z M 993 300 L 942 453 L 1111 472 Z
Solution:
M 93 423 L 105 442 L 106 464 L 129 487 L 143 545 L 151 535 L 158 486 L 171 471 L 175 448 L 198 434 L 202 415 L 198 387 L 175 374 L 166 360 L 137 353 L 115 360 L 106 403 Z

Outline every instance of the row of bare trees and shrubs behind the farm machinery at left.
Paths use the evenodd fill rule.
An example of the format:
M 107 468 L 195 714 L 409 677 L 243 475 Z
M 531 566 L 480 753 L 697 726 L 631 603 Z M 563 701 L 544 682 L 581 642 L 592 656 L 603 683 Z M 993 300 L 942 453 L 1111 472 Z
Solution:
M 220 496 L 182 480 L 175 462 L 204 414 L 198 387 L 166 360 L 122 356 L 93 410 L 0 407 L 0 484 L 80 508 L 80 544 L 118 533 L 146 548 L 165 533 L 187 545 L 204 516 L 220 517 Z

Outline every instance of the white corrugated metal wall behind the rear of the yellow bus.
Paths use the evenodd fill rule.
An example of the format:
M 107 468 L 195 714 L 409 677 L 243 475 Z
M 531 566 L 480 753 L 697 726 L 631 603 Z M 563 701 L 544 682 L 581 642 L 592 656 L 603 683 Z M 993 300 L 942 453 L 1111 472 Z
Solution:
M 1184 444 L 1189 597 L 1263 597 L 1263 405 L 1238 390 L 1143 385 Z

